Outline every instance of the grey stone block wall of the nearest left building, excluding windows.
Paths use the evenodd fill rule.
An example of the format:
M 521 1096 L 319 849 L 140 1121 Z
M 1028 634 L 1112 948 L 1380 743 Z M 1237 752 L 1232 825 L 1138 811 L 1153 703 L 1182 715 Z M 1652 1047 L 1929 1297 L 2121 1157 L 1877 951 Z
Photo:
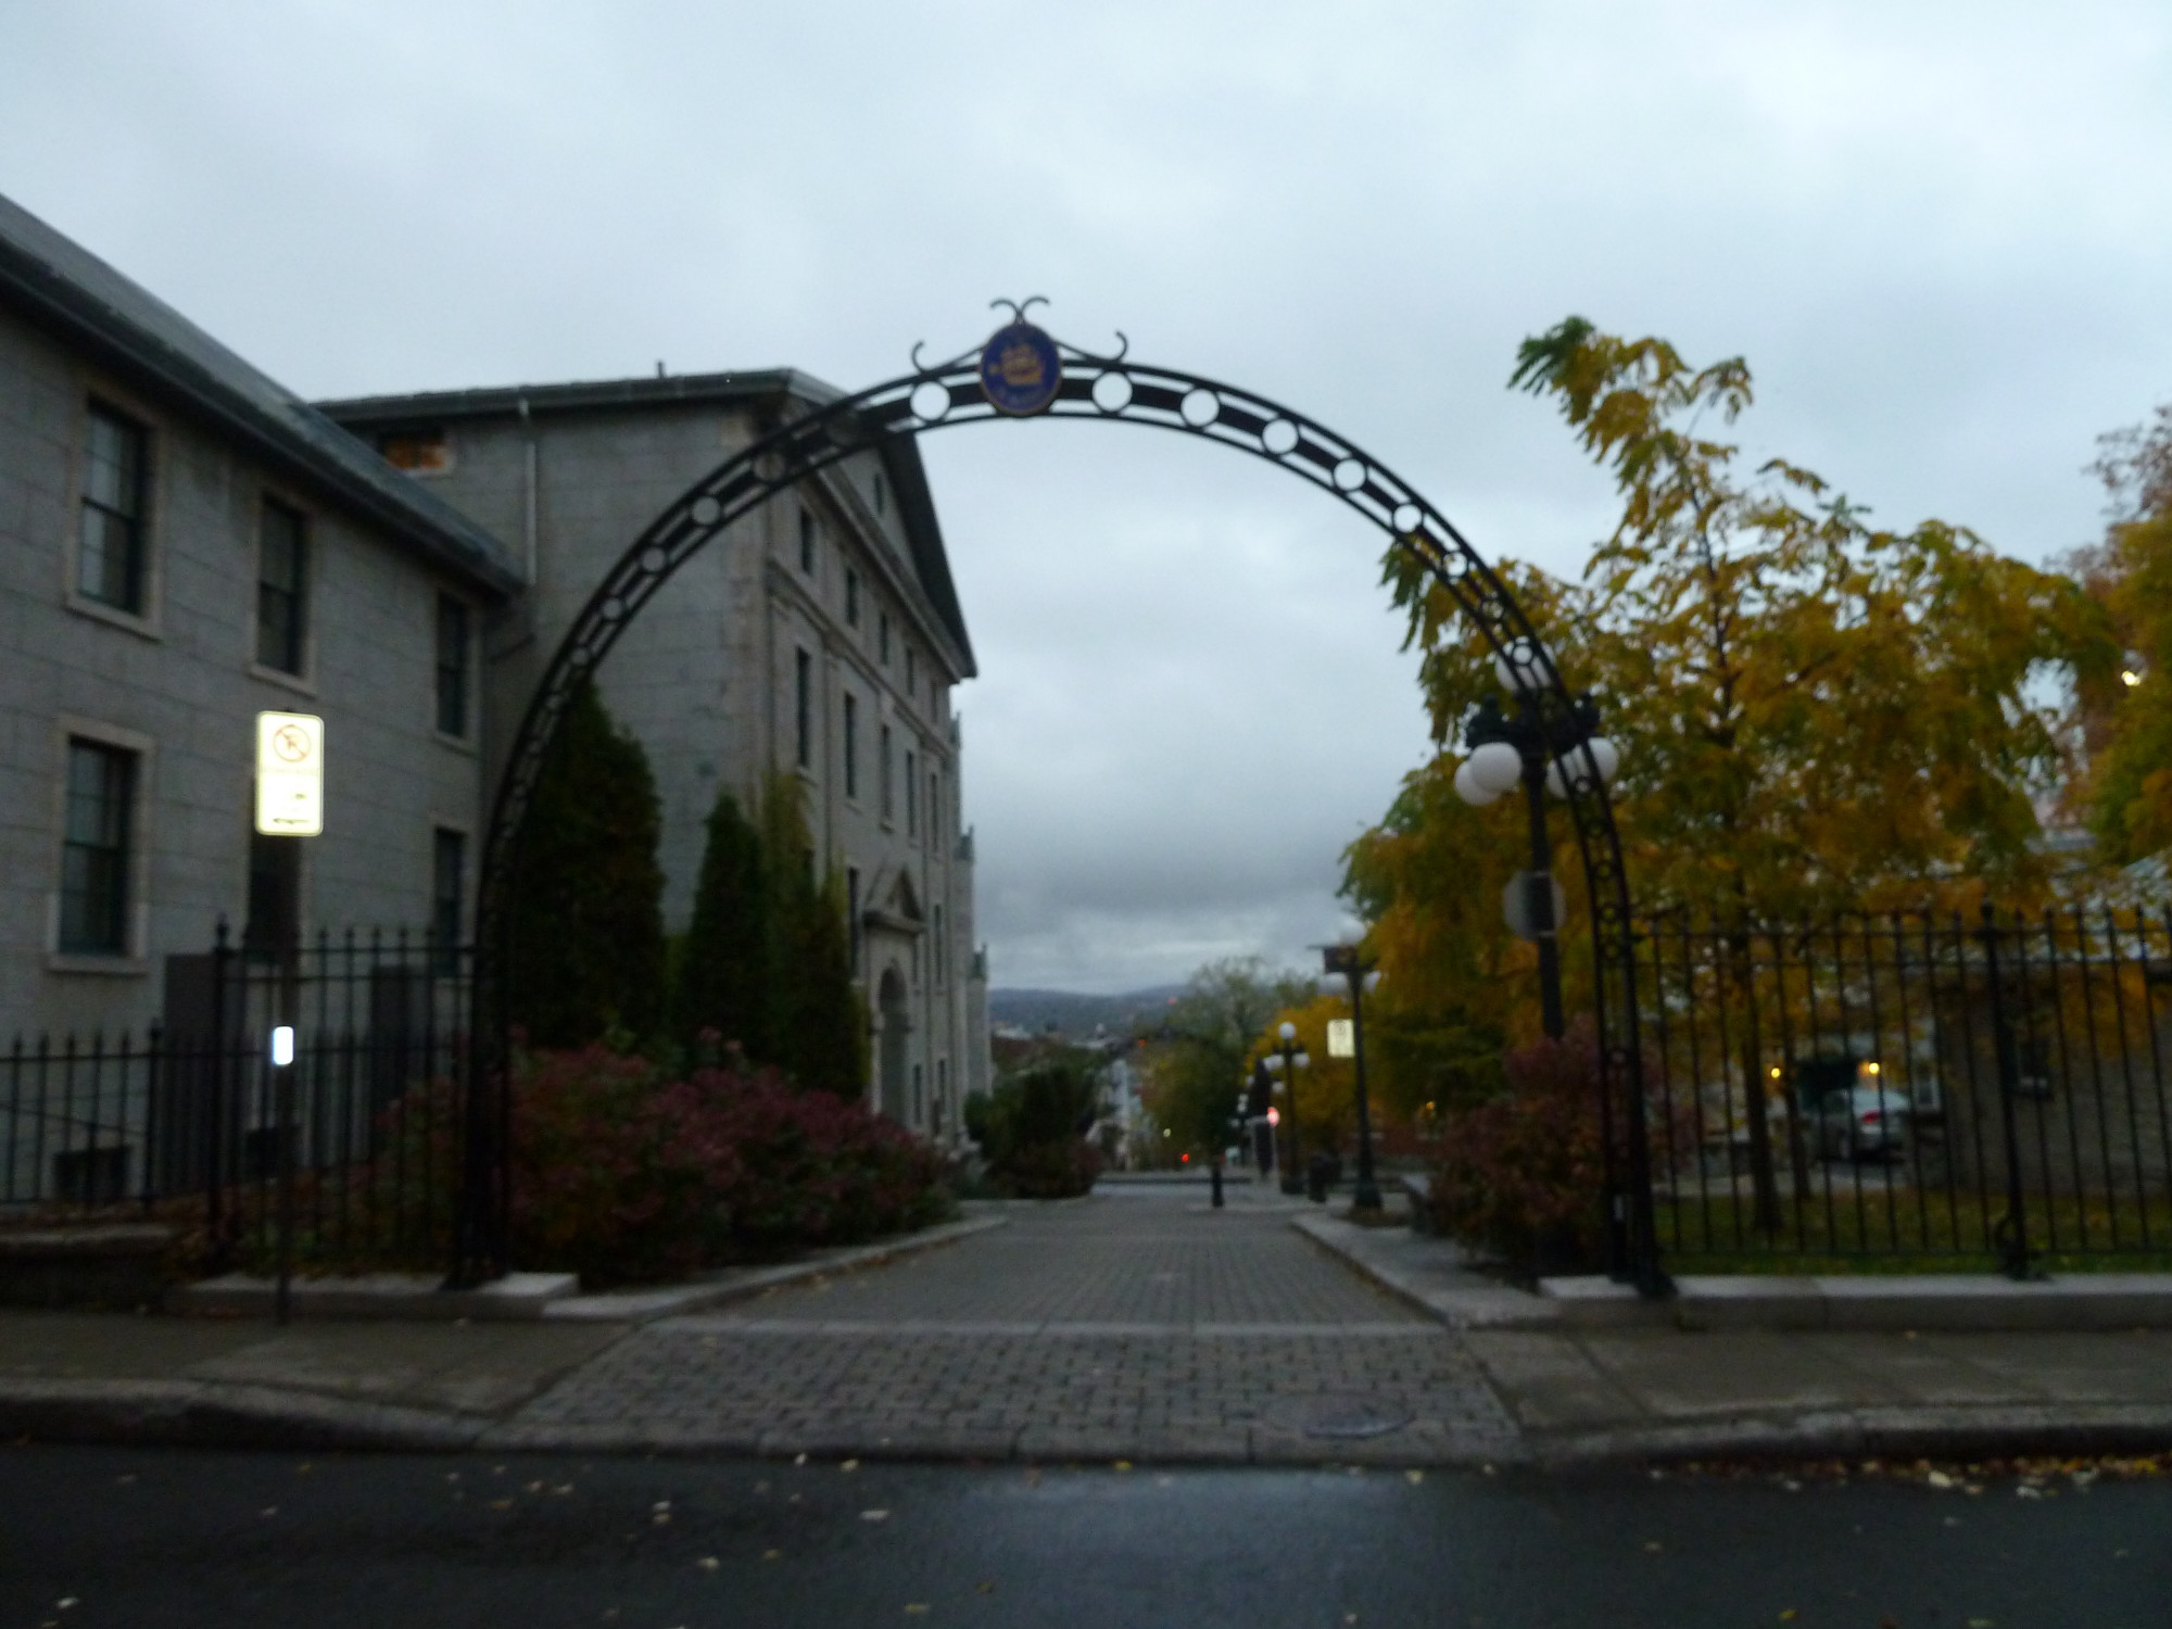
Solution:
M 91 395 L 152 430 L 141 617 L 74 595 Z M 254 665 L 267 493 L 311 528 L 302 680 Z M 219 914 L 239 932 L 258 710 L 326 719 L 304 923 L 426 921 L 432 828 L 478 832 L 482 786 L 476 749 L 434 730 L 439 589 L 413 554 L 0 313 L 0 1036 L 141 1027 L 167 954 L 209 947 Z M 70 732 L 141 754 L 124 958 L 54 951 Z

